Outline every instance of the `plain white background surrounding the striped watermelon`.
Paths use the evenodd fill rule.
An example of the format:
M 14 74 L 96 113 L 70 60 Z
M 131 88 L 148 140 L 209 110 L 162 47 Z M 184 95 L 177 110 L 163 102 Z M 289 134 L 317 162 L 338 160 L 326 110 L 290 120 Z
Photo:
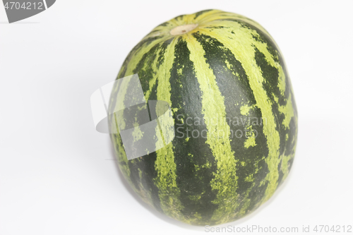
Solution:
M 352 1 L 58 0 L 13 24 L 0 6 L 1 235 L 205 233 L 150 210 L 128 188 L 109 136 L 95 131 L 90 95 L 156 25 L 208 8 L 270 32 L 299 110 L 286 183 L 230 225 L 353 225 Z

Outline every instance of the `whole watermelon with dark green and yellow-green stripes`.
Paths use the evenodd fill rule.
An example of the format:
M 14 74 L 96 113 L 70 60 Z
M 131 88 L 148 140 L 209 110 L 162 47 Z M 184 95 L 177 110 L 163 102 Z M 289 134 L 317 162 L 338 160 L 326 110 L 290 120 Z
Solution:
M 110 137 L 122 174 L 151 207 L 188 224 L 232 222 L 286 179 L 297 108 L 282 54 L 261 25 L 218 10 L 178 16 L 131 50 L 118 78 L 136 73 L 145 100 L 169 103 L 175 138 L 128 160 L 119 133 Z

